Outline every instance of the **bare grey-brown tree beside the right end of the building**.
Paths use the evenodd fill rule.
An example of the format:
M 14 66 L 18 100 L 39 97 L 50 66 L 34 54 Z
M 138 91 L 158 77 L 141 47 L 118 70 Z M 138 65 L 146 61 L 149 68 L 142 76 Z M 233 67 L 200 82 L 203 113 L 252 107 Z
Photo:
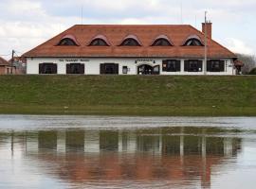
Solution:
M 242 73 L 248 74 L 253 68 L 256 67 L 256 57 L 255 55 L 245 55 L 245 54 L 237 54 L 238 60 L 243 61 L 245 64 L 242 67 Z

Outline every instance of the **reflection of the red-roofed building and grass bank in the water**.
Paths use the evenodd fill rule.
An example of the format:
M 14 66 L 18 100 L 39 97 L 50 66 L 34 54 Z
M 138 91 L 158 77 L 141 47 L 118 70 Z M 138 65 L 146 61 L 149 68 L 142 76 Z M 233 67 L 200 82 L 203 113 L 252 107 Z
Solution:
M 241 148 L 241 139 L 223 137 L 221 132 L 68 129 L 26 133 L 25 145 L 27 157 L 52 163 L 54 174 L 72 182 L 201 178 L 202 186 L 208 187 L 212 166 L 227 163 Z M 54 153 L 45 154 L 46 150 Z

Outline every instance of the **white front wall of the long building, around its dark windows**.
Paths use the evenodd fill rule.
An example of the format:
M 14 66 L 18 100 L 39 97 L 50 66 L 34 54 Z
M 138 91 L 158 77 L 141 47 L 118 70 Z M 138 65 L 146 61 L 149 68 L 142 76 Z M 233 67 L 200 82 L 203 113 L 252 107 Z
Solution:
M 137 60 L 137 63 L 136 63 Z M 152 66 L 160 65 L 160 75 L 204 75 L 204 72 L 184 72 L 184 60 L 181 60 L 181 71 L 180 72 L 162 72 L 162 60 L 159 58 L 82 58 L 82 59 L 71 59 L 71 58 L 27 58 L 27 74 L 39 74 L 39 64 L 40 63 L 57 63 L 58 64 L 58 74 L 65 75 L 65 65 L 67 63 L 80 62 L 84 63 L 85 75 L 100 75 L 100 64 L 101 63 L 119 63 L 119 75 L 122 75 L 122 66 L 127 66 L 129 72 L 127 75 L 137 75 L 137 66 L 141 64 L 149 64 Z M 173 58 L 170 58 L 173 60 Z M 222 59 L 226 61 L 226 71 L 225 72 L 208 72 L 207 75 L 235 75 L 235 69 L 232 65 L 232 60 Z M 155 61 L 155 63 L 154 63 Z M 205 64 L 203 63 L 203 66 Z M 203 68 L 204 70 L 204 68 Z

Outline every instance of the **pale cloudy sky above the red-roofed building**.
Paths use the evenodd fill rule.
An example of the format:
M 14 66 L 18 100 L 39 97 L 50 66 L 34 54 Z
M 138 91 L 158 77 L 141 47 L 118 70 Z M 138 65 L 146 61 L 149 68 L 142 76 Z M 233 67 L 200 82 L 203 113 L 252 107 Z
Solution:
M 235 53 L 256 54 L 256 0 L 0 0 L 0 56 L 20 56 L 77 24 L 192 25 L 204 12 L 212 38 Z

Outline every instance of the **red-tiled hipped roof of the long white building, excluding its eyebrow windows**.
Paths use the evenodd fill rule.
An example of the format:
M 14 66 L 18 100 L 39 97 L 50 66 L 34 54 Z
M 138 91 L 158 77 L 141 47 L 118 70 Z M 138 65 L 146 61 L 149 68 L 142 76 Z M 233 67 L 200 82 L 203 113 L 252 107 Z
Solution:
M 64 36 L 71 35 L 78 46 L 56 46 Z M 110 46 L 88 46 L 95 36 L 105 36 Z M 164 35 L 174 46 L 151 46 L 158 36 Z M 141 46 L 119 46 L 127 36 L 136 36 Z M 28 51 L 25 57 L 173 57 L 203 58 L 203 46 L 182 46 L 188 36 L 204 39 L 204 34 L 189 25 L 76 25 Z M 208 39 L 209 58 L 236 58 L 229 49 Z

